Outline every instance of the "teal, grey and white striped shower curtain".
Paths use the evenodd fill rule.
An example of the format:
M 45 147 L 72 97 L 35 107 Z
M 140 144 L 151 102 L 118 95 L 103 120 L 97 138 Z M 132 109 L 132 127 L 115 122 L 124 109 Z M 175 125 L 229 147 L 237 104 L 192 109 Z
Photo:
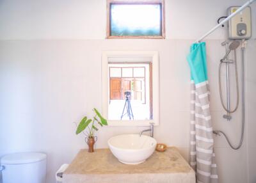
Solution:
M 191 117 L 189 164 L 197 183 L 218 182 L 213 149 L 212 122 L 205 42 L 192 44 L 187 56 L 191 70 Z

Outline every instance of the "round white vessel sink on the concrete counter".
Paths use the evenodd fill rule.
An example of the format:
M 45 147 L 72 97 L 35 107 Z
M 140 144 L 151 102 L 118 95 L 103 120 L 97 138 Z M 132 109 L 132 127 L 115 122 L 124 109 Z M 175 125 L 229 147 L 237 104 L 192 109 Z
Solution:
M 108 146 L 121 163 L 143 163 L 156 148 L 156 139 L 138 134 L 113 136 L 108 140 Z

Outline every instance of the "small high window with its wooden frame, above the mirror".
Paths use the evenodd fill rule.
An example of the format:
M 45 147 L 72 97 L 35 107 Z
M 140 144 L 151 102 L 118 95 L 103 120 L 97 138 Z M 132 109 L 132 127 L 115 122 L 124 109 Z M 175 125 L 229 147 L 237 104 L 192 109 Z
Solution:
M 107 38 L 164 38 L 164 0 L 108 0 Z

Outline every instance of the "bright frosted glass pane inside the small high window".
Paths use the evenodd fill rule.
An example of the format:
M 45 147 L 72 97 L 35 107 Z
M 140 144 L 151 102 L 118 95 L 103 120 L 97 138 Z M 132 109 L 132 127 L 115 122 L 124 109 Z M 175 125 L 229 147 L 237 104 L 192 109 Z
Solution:
M 161 4 L 111 4 L 111 36 L 161 36 Z

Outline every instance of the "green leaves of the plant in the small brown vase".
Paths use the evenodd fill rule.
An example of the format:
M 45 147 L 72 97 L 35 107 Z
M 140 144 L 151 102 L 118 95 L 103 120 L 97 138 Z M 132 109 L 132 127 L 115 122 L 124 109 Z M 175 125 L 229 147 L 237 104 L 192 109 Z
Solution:
M 93 112 L 95 113 L 95 115 L 92 119 L 88 119 L 87 116 L 83 117 L 83 119 L 77 126 L 76 134 L 83 132 L 86 136 L 90 138 L 93 137 L 95 135 L 95 132 L 99 130 L 99 125 L 100 127 L 108 125 L 107 120 L 102 117 L 97 109 L 93 108 Z

